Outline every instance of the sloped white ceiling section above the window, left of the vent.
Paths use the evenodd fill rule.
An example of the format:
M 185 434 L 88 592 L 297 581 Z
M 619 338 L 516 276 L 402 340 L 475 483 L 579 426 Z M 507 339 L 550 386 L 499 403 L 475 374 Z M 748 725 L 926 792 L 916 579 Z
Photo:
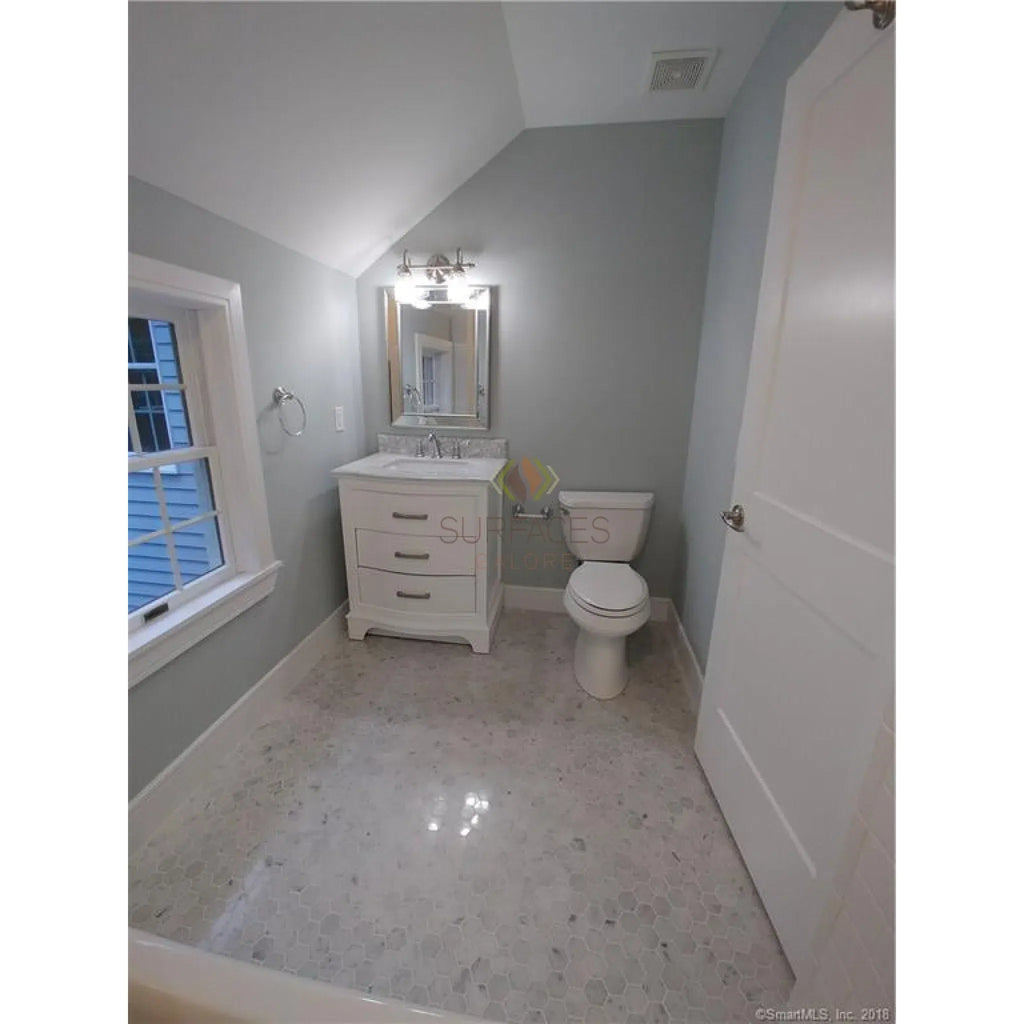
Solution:
M 523 127 L 497 4 L 133 3 L 129 170 L 356 275 Z

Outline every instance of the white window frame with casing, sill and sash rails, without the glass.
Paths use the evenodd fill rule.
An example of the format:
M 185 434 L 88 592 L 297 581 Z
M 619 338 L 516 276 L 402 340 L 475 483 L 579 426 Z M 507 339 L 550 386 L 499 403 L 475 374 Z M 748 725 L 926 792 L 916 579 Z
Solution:
M 268 596 L 282 563 L 270 538 L 241 286 L 133 253 L 128 262 L 129 309 L 154 310 L 138 314 L 175 324 L 190 429 L 199 424 L 190 447 L 154 453 L 144 461 L 152 467 L 165 460 L 210 460 L 224 558 L 223 566 L 129 615 L 131 688 Z M 171 309 L 176 314 L 166 315 Z M 181 310 L 185 331 L 178 333 Z M 164 601 L 168 610 L 160 617 L 132 623 Z

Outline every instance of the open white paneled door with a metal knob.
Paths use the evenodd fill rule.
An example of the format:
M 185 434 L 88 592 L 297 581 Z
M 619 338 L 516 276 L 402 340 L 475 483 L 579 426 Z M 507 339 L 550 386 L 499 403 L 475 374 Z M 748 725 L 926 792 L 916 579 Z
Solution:
M 790 81 L 697 723 L 798 974 L 892 695 L 893 32 L 841 12 Z

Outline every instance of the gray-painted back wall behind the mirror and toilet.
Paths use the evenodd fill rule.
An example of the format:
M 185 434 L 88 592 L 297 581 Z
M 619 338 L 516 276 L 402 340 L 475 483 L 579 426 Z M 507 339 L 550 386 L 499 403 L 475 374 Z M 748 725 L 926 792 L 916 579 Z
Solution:
M 653 490 L 637 567 L 668 596 L 720 136 L 709 120 L 519 135 L 359 276 L 368 440 L 390 422 L 379 290 L 403 248 L 421 260 L 461 245 L 498 288 L 489 433 L 566 489 Z M 564 585 L 572 563 L 547 529 L 512 536 L 507 583 Z

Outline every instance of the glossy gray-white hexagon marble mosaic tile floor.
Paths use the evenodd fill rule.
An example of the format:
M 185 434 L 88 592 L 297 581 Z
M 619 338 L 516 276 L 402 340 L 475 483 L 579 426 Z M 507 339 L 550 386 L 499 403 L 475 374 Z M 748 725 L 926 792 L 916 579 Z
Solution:
M 793 983 L 692 753 L 669 627 L 626 692 L 564 615 L 489 655 L 339 640 L 130 863 L 133 925 L 498 1021 L 753 1021 Z

